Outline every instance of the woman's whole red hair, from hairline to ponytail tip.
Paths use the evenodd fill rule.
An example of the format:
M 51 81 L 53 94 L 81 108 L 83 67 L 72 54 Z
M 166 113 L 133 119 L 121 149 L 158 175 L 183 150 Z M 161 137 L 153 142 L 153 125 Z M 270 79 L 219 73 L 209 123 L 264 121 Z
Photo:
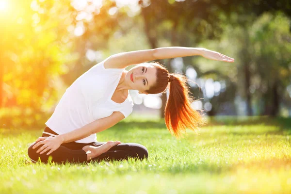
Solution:
M 190 97 L 187 77 L 178 73 L 169 73 L 159 63 L 147 63 L 157 69 L 156 83 L 146 92 L 149 94 L 164 93 L 170 82 L 169 97 L 165 107 L 165 123 L 167 129 L 176 137 L 181 137 L 186 128 L 194 130 L 206 124 L 202 114 L 191 107 L 194 98 Z M 200 110 L 201 111 L 201 110 Z

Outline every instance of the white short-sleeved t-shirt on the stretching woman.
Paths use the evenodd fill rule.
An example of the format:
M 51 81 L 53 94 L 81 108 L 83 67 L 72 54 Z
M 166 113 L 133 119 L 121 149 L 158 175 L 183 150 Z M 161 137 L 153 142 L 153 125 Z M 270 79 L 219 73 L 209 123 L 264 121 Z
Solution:
M 133 107 L 130 95 L 123 103 L 116 103 L 111 99 L 125 68 L 105 69 L 104 62 L 107 59 L 91 67 L 66 89 L 46 122 L 50 129 L 63 134 L 110 116 L 113 112 L 120 111 L 125 117 L 129 116 Z M 75 142 L 95 141 L 97 136 L 92 134 Z

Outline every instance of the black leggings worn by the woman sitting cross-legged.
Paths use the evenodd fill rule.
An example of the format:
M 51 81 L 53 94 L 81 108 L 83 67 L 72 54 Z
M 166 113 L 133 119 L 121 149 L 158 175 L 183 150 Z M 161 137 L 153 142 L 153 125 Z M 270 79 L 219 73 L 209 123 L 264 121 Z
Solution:
M 53 130 L 49 129 L 49 127 L 45 127 L 44 132 L 58 135 Z M 49 134 L 46 133 L 42 134 L 42 137 L 48 136 Z M 43 145 L 40 145 L 35 149 L 32 149 L 32 147 L 35 145 L 35 142 L 33 142 L 28 148 L 28 156 L 32 160 L 32 162 L 37 162 L 38 158 L 40 158 L 41 162 L 47 163 L 49 160 L 49 156 L 52 156 L 51 162 L 55 163 L 63 162 L 81 163 L 87 162 L 87 154 L 84 150 L 82 150 L 84 146 L 101 146 L 103 144 L 105 144 L 105 142 L 91 142 L 88 144 L 69 142 L 62 144 L 58 149 L 56 149 L 49 155 L 47 155 L 49 151 L 40 155 L 39 153 L 36 153 L 36 151 Z M 129 157 L 140 160 L 147 158 L 148 152 L 146 147 L 135 143 L 121 143 L 117 146 L 113 146 L 107 152 L 91 160 L 92 161 L 127 160 Z

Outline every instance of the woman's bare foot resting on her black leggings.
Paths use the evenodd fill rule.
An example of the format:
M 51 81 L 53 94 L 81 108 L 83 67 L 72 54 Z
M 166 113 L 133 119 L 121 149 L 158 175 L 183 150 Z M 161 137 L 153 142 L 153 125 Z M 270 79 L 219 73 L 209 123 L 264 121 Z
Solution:
M 101 145 L 101 146 L 84 146 L 82 148 L 82 150 L 84 150 L 87 154 L 87 161 L 91 160 L 92 158 L 95 158 L 101 154 L 103 154 L 104 152 L 107 152 L 110 148 L 112 148 L 113 146 L 116 146 L 118 144 L 121 144 L 121 142 L 119 141 L 108 141 L 105 144 Z

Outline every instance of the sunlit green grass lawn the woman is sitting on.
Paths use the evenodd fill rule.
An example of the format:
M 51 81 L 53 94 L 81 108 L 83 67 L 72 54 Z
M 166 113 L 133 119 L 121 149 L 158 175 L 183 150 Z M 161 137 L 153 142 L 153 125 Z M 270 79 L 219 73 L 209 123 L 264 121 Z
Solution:
M 215 118 L 199 135 L 172 137 L 162 121 L 128 118 L 97 140 L 135 142 L 148 160 L 33 164 L 42 129 L 0 129 L 0 193 L 291 193 L 290 119 Z

